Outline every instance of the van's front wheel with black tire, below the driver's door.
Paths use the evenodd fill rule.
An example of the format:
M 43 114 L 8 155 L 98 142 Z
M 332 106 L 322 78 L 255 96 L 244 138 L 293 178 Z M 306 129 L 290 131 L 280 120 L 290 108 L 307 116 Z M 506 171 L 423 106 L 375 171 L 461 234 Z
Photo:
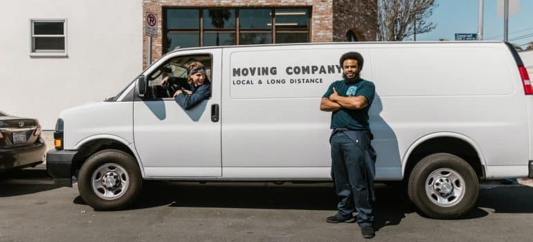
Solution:
M 105 172 L 105 169 L 109 172 Z M 115 181 L 113 184 L 115 187 L 105 189 L 106 185 L 102 185 L 98 188 L 97 186 L 103 184 L 102 182 L 96 182 L 97 185 L 93 187 L 93 179 L 98 180 L 100 177 L 101 181 L 111 176 L 113 178 L 108 181 L 110 183 Z M 78 176 L 80 195 L 83 201 L 95 210 L 122 210 L 134 201 L 141 191 L 142 184 L 141 170 L 135 158 L 116 149 L 106 149 L 93 154 L 82 165 Z M 108 193 L 105 193 L 106 191 Z

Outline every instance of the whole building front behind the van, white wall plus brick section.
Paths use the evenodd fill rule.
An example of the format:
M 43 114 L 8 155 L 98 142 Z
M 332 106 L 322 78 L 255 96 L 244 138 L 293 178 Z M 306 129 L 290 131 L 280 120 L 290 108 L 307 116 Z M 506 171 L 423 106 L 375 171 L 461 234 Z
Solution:
M 116 95 L 178 46 L 373 41 L 376 0 L 9 1 L 0 14 L 0 110 L 53 130 L 64 109 Z M 105 6 L 105 8 L 102 8 Z

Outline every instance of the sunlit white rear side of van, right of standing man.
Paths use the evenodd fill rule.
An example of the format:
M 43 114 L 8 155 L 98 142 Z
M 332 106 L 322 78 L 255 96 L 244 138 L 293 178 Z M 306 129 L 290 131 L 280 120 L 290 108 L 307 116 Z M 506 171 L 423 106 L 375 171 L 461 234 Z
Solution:
M 453 132 L 474 140 L 488 166 L 527 165 L 525 95 L 505 45 L 391 46 L 371 56 L 383 107 L 371 115 L 394 131 L 401 156 L 426 134 Z

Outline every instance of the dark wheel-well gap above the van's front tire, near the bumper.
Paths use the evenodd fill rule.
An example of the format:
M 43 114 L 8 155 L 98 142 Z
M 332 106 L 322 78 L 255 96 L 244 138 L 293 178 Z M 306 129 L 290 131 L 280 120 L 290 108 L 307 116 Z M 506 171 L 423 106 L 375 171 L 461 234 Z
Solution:
M 127 147 L 121 142 L 110 139 L 91 140 L 86 144 L 82 145 L 78 153 L 76 153 L 76 155 L 74 156 L 71 168 L 71 173 L 73 174 L 73 176 L 78 177 L 78 171 L 80 171 L 80 168 L 82 167 L 83 163 L 90 156 L 92 156 L 98 151 L 102 151 L 105 149 L 118 149 L 120 151 L 128 153 L 130 156 L 135 158 L 134 153 L 129 149 L 129 147 Z

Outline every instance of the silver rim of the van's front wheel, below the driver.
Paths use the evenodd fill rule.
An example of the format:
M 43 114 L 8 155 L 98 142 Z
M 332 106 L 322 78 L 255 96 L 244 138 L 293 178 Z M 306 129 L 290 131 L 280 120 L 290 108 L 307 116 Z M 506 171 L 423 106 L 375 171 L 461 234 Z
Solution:
M 91 188 L 100 198 L 114 200 L 126 192 L 129 176 L 124 167 L 116 163 L 105 163 L 93 172 Z

